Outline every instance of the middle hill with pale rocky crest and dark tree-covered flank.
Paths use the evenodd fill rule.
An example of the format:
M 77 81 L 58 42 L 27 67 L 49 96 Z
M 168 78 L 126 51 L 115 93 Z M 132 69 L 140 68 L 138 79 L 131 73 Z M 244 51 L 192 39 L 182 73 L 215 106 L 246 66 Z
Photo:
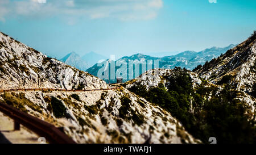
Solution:
M 254 143 L 256 100 L 244 91 L 181 68 L 152 69 L 123 86 L 170 112 L 204 143 L 211 136 L 218 143 Z

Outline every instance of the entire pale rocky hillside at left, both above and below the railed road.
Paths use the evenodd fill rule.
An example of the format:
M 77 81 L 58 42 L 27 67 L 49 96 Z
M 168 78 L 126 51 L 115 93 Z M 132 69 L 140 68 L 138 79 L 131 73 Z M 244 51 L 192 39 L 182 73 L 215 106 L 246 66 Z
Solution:
M 108 87 L 101 79 L 0 35 L 0 89 Z M 80 93 L 1 93 L 0 103 L 60 127 L 77 143 L 201 143 L 170 112 L 122 86 Z

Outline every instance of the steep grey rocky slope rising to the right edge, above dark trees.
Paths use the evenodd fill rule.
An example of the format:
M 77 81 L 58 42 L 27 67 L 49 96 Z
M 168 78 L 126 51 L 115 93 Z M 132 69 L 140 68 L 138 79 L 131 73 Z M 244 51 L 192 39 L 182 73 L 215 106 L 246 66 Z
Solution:
M 251 91 L 251 87 L 256 81 L 255 48 L 256 32 L 224 55 L 194 71 L 213 83 L 229 83 L 233 89 Z

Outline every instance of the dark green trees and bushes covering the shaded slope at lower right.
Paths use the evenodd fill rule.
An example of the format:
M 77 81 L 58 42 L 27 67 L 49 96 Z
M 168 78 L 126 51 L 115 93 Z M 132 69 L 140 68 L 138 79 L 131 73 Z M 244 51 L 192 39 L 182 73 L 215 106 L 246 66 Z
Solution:
M 217 87 L 206 85 L 193 89 L 186 70 L 175 68 L 174 73 L 164 77 L 170 82 L 168 90 L 163 83 L 148 91 L 142 85 L 129 90 L 169 111 L 204 143 L 212 136 L 218 143 L 255 143 L 255 122 L 248 121 L 252 114 L 245 103 L 234 99 L 238 92 L 226 88 L 218 93 Z

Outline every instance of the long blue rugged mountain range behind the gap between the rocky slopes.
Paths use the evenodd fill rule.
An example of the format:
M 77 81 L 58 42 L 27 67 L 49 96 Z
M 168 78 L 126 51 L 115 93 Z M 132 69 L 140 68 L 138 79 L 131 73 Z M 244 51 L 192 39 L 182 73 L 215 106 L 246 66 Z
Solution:
M 117 61 L 115 61 L 115 73 L 119 72 L 121 69 L 123 70 L 122 66 L 117 65 L 117 62 L 118 63 L 120 63 L 120 62 L 128 63 L 129 60 L 133 60 L 133 62 L 134 62 L 133 68 L 130 68 L 130 70 L 133 70 L 133 72 L 129 73 L 129 65 L 127 65 L 126 69 L 125 69 L 127 74 L 126 75 L 122 74 L 120 76 L 123 78 L 123 81 L 128 81 L 130 79 L 136 78 L 140 74 L 144 73 L 146 70 L 151 69 L 150 65 L 148 64 L 148 63 L 150 63 L 150 61 L 148 61 L 148 60 L 153 61 L 154 66 L 151 65 L 152 68 L 172 69 L 175 66 L 179 66 L 181 68 L 186 68 L 188 70 L 192 70 L 192 69 L 196 68 L 197 65 L 203 65 L 205 62 L 210 61 L 213 58 L 220 56 L 222 53 L 225 53 L 226 51 L 228 51 L 229 49 L 231 49 L 235 46 L 236 45 L 234 45 L 234 44 L 230 44 L 228 47 L 224 47 L 224 48 L 212 47 L 212 48 L 208 48 L 203 51 L 200 51 L 200 52 L 184 51 L 184 52 L 181 52 L 174 56 L 165 56 L 165 57 L 152 57 L 152 56 L 147 56 L 147 55 L 138 53 L 138 54 L 135 54 L 132 56 L 125 56 L 125 57 L 119 58 Z M 156 66 L 154 64 L 154 60 L 159 61 L 158 66 Z M 89 72 L 90 74 L 93 74 L 94 76 L 98 76 L 98 74 L 103 74 L 103 72 L 110 70 L 111 64 L 114 64 L 114 63 L 110 60 L 106 60 L 104 62 L 101 62 L 101 64 L 102 65 L 100 65 L 100 66 L 98 66 L 98 64 L 95 64 L 91 68 L 87 69 L 86 71 Z M 134 71 L 134 69 L 138 68 L 138 66 L 140 64 L 143 64 L 144 68 L 142 68 L 142 66 L 140 66 L 141 69 L 139 70 L 139 72 L 136 73 Z M 103 65 L 105 67 L 104 70 L 101 69 Z M 99 70 L 101 73 L 99 73 Z M 129 76 L 129 74 L 130 74 L 130 76 Z M 131 75 L 131 74 L 133 74 L 133 75 Z M 110 80 L 109 79 L 110 77 L 111 77 L 111 75 L 109 73 L 108 76 L 105 76 L 102 79 L 104 79 L 106 82 L 114 83 L 116 81 L 116 78 Z M 112 77 L 113 77 L 113 75 L 112 75 Z

